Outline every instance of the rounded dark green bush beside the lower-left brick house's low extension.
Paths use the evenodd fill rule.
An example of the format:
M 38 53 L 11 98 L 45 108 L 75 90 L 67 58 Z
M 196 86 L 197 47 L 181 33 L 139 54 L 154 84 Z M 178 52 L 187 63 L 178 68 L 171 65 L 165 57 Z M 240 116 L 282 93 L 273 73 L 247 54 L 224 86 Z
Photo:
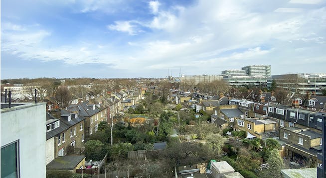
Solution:
M 85 156 L 87 160 L 102 160 L 106 153 L 107 149 L 99 140 L 89 140 L 85 143 Z

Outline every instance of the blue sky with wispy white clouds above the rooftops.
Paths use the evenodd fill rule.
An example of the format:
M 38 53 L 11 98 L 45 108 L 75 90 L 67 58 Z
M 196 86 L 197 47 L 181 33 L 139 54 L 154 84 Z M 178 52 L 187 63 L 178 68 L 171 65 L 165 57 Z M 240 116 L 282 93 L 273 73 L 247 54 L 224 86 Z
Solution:
M 1 79 L 326 72 L 326 0 L 1 0 Z

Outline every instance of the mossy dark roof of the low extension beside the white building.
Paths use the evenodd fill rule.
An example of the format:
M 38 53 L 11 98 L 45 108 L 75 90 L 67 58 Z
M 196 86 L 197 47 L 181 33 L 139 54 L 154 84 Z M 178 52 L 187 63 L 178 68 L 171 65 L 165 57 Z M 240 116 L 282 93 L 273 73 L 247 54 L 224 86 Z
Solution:
M 59 156 L 46 165 L 47 170 L 73 170 L 85 158 L 85 155 Z

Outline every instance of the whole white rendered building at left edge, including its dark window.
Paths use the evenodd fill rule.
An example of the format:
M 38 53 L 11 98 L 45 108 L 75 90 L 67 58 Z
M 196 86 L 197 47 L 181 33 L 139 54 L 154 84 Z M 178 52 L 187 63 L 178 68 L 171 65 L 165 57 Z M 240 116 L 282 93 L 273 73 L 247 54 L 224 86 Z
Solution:
M 1 178 L 45 178 L 45 104 L 1 103 Z

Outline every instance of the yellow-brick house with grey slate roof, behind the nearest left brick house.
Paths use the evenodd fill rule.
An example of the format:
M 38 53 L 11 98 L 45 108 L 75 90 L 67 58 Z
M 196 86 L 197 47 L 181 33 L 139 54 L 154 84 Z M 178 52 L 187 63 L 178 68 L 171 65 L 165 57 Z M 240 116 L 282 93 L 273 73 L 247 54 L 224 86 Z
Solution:
M 91 104 L 79 100 L 76 104 L 70 104 L 68 110 L 85 117 L 85 134 L 91 135 L 97 131 L 101 121 L 107 121 L 107 108 L 101 104 Z

